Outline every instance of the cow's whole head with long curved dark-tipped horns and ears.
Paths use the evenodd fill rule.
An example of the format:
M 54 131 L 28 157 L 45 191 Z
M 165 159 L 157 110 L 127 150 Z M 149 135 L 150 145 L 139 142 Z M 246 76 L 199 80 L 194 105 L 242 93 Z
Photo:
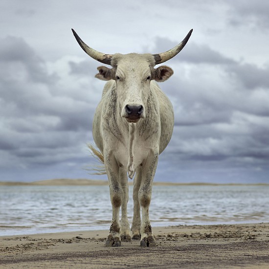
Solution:
M 167 66 L 154 68 L 176 56 L 188 42 L 192 30 L 184 40 L 174 48 L 159 54 L 105 54 L 86 45 L 76 32 L 73 34 L 82 49 L 93 59 L 112 66 L 98 67 L 95 75 L 101 80 L 115 80 L 121 116 L 128 122 L 138 122 L 146 116 L 145 107 L 150 90 L 151 80 L 162 82 L 173 75 L 173 70 Z

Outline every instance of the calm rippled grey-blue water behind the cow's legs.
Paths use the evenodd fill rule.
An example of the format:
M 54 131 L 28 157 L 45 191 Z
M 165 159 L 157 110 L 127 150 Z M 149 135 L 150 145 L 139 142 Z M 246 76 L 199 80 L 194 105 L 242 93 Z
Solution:
M 111 216 L 108 186 L 0 187 L 0 235 L 109 229 Z M 269 222 L 269 186 L 154 186 L 150 217 L 153 226 Z

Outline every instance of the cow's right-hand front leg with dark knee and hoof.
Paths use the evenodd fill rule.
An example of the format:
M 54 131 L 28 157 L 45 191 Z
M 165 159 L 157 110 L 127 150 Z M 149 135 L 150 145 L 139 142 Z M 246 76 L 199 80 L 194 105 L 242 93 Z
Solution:
M 142 167 L 142 182 L 138 192 L 138 200 L 142 210 L 141 220 L 141 247 L 155 247 L 156 241 L 152 233 L 149 217 L 149 207 L 152 194 L 152 183 L 155 176 L 158 162 L 158 155 L 152 152 L 147 157 L 146 163 Z

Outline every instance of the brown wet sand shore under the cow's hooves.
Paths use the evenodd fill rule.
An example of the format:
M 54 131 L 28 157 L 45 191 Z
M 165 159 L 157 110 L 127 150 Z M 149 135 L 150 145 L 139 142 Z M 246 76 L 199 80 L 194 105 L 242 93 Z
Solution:
M 157 247 L 105 247 L 108 231 L 0 237 L 0 268 L 269 268 L 269 224 L 153 228 Z

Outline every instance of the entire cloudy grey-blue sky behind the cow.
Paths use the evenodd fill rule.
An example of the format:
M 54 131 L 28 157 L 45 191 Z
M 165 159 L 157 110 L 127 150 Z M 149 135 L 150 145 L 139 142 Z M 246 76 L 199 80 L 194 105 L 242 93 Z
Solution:
M 156 180 L 269 183 L 269 2 L 1 0 L 0 180 L 98 178 L 93 113 L 105 53 L 159 53 L 193 28 L 160 84 L 174 134 Z M 104 179 L 104 177 L 102 178 Z

